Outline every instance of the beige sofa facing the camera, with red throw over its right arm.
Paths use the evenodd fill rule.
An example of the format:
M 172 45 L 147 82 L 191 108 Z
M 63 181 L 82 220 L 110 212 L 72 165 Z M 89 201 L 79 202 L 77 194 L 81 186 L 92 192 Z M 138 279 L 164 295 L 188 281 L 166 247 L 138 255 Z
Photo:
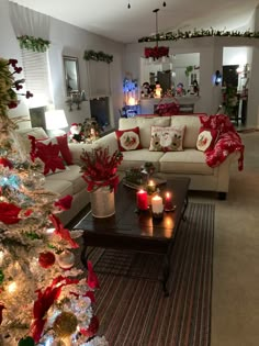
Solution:
M 182 152 L 150 152 L 150 129 L 157 126 L 185 125 Z M 151 161 L 156 171 L 162 178 L 185 176 L 191 178 L 191 190 L 215 191 L 221 199 L 226 198 L 229 185 L 229 166 L 239 158 L 239 153 L 230 154 L 224 163 L 215 168 L 209 167 L 205 154 L 196 149 L 196 139 L 201 127 L 199 114 L 171 116 L 135 116 L 121 118 L 119 130 L 139 127 L 142 149 L 123 152 L 123 163 L 119 167 L 125 171 L 133 167 L 140 167 L 145 161 Z M 119 149 L 115 132 L 101 137 L 99 145 L 109 146 L 113 152 Z

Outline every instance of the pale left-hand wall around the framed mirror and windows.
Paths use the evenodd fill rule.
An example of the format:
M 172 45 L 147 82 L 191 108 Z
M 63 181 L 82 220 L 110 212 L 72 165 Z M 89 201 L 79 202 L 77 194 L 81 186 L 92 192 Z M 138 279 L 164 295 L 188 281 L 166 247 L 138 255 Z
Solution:
M 3 58 L 16 58 L 21 65 L 21 54 L 18 41 L 15 38 L 12 24 L 9 18 L 8 0 L 0 1 L 0 56 Z M 112 111 L 116 123 L 120 116 L 119 109 L 123 105 L 123 51 L 121 43 L 106 40 L 92 34 L 68 23 L 50 19 L 50 48 L 48 51 L 50 78 L 53 85 L 54 105 L 56 109 L 64 109 L 67 115 L 68 124 L 72 122 L 82 122 L 90 118 L 89 102 L 81 103 L 81 110 L 69 112 L 66 101 L 65 74 L 63 55 L 70 55 L 79 58 L 79 74 L 81 90 L 88 90 L 87 62 L 83 59 L 86 49 L 102 51 L 105 54 L 113 55 L 111 63 L 111 91 L 112 91 Z M 27 107 L 22 102 L 11 115 L 27 115 Z

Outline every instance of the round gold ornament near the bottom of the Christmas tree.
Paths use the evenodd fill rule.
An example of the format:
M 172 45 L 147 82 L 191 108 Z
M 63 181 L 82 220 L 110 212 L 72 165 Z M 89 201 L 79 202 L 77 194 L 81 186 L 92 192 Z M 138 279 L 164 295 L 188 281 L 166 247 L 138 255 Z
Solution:
M 72 335 L 77 330 L 77 317 L 71 312 L 61 312 L 53 324 L 53 330 L 58 337 L 67 337 Z

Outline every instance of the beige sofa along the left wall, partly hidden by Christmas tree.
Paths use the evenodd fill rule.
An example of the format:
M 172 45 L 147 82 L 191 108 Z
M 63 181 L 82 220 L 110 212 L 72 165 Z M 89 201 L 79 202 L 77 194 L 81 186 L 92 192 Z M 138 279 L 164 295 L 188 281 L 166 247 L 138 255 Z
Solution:
M 22 143 L 27 153 L 31 150 L 31 142 L 29 135 L 37 139 L 46 138 L 47 134 L 42 127 L 18 130 L 22 136 Z M 58 171 L 45 177 L 45 189 L 55 192 L 59 198 L 67 194 L 72 196 L 72 204 L 70 210 L 59 214 L 59 219 L 64 225 L 68 224 L 89 202 L 89 192 L 87 192 L 87 185 L 80 172 L 80 155 L 82 148 L 91 150 L 90 144 L 68 144 L 72 155 L 74 165 L 69 165 L 65 171 Z

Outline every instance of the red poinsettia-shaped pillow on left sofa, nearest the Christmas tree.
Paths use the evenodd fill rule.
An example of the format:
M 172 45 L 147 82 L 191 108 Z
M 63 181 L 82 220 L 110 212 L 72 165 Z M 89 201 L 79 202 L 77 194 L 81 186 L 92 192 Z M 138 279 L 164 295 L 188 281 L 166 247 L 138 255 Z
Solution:
M 44 163 L 43 174 L 45 176 L 52 172 L 66 170 L 57 138 L 48 138 L 44 141 L 36 139 L 34 155 Z

